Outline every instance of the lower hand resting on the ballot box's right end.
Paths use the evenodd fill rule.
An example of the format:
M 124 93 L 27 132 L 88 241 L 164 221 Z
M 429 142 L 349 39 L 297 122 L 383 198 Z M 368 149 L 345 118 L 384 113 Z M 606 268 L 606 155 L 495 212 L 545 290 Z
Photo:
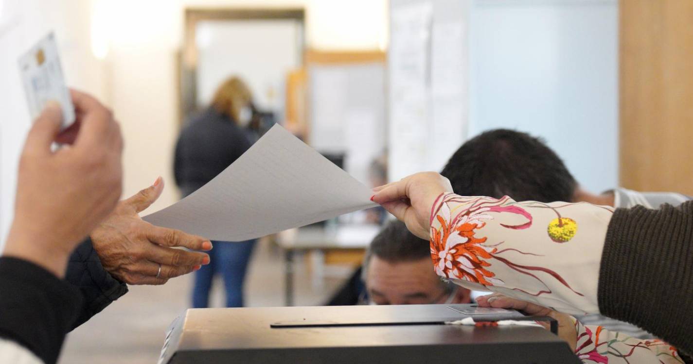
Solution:
M 570 349 L 575 351 L 577 345 L 577 330 L 570 316 L 565 313 L 554 311 L 550 308 L 539 306 L 538 304 L 525 302 L 516 298 L 508 297 L 500 293 L 492 295 L 482 295 L 477 297 L 479 307 L 495 307 L 499 309 L 516 309 L 532 316 L 549 316 L 559 322 L 559 338 L 563 339 Z M 539 322 L 546 329 L 550 329 L 548 322 Z

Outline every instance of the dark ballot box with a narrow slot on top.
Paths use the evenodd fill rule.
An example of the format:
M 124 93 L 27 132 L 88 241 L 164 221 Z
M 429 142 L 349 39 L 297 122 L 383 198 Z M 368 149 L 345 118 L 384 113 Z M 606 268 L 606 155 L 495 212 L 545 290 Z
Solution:
M 168 329 L 159 363 L 580 363 L 543 327 L 444 324 L 524 317 L 474 310 L 464 304 L 188 309 Z

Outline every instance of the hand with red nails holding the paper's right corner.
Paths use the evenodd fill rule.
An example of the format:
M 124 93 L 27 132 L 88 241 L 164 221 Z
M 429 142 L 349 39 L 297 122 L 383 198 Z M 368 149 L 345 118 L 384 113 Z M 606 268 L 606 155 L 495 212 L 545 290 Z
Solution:
M 441 193 L 453 192 L 453 186 L 436 172 L 420 172 L 373 190 L 371 200 L 404 221 L 412 234 L 428 240 L 433 203 Z

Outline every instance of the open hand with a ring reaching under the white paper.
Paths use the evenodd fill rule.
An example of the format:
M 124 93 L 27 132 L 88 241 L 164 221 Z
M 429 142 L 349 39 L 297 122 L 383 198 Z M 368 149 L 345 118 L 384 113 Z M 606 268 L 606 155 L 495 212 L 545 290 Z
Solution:
M 94 231 L 91 242 L 104 269 L 128 284 L 164 284 L 168 279 L 191 273 L 200 265 L 209 264 L 206 253 L 212 244 L 204 237 L 189 235 L 180 230 L 154 226 L 139 217 L 139 212 L 157 201 L 164 190 L 159 177 L 149 188 L 118 203 Z M 159 273 L 161 264 L 161 273 Z

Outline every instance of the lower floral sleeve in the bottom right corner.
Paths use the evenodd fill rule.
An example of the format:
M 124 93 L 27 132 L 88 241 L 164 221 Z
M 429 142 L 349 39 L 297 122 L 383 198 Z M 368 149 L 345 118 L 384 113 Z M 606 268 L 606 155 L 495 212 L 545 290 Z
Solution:
M 684 364 L 676 349 L 662 340 L 641 340 L 572 320 L 577 330 L 575 354 L 583 364 Z

